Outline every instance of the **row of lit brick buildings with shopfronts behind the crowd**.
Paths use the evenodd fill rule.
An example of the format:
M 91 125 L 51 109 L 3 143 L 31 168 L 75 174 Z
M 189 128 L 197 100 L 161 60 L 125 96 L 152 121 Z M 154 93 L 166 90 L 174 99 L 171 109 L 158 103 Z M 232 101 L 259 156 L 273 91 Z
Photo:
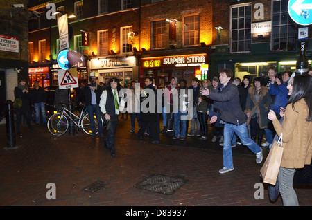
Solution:
M 69 19 L 73 30 L 69 45 L 88 60 L 86 67 L 78 68 L 80 81 L 94 72 L 99 82 L 117 76 L 128 84 L 153 76 L 157 84 L 164 84 L 174 76 L 189 84 L 194 76 L 209 79 L 222 68 L 231 68 L 242 78 L 265 74 L 270 66 L 279 73 L 293 71 L 299 54 L 300 26 L 289 17 L 286 0 L 51 2 L 68 15 L 78 14 Z M 29 10 L 44 14 L 45 7 L 38 4 Z M 46 38 L 50 64 L 31 65 L 49 65 L 50 84 L 57 84 L 58 26 L 55 20 L 42 24 L 46 29 L 30 30 L 30 41 Z M 79 45 L 81 30 L 87 31 L 89 46 Z M 311 59 L 312 44 L 308 45 L 306 56 Z

